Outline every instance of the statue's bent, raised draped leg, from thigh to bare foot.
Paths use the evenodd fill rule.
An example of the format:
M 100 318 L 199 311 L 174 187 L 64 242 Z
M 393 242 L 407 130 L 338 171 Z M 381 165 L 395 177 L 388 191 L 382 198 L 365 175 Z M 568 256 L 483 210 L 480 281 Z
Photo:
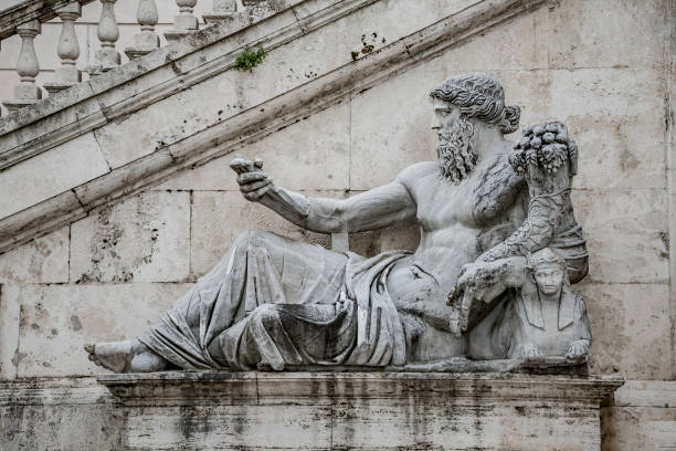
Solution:
M 89 358 L 114 371 L 223 366 L 209 345 L 258 305 L 330 302 L 346 256 L 274 233 L 241 234 L 216 266 L 136 340 L 87 345 Z

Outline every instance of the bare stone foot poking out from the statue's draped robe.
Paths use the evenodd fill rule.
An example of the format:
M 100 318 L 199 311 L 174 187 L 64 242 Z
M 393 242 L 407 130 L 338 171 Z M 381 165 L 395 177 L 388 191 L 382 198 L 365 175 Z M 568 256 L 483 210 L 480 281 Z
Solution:
M 168 365 L 138 339 L 87 344 L 84 348 L 89 360 L 115 373 L 161 371 Z

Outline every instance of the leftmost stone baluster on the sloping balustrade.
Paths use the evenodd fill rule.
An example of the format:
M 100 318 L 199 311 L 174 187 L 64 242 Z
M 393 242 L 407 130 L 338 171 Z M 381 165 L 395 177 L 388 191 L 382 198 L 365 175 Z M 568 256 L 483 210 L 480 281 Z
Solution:
M 21 82 L 14 86 L 14 99 L 2 102 L 8 111 L 13 112 L 27 105 L 36 103 L 42 98 L 42 91 L 35 84 L 35 76 L 40 73 L 40 63 L 35 54 L 33 40 L 42 28 L 38 20 L 31 20 L 17 27 L 17 34 L 21 36 L 21 51 L 17 61 L 17 73 Z

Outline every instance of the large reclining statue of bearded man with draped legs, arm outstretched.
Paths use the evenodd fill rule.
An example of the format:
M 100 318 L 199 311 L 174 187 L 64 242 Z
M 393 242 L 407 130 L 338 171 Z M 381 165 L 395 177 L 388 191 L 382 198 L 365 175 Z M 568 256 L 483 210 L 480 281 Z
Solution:
M 446 297 L 462 291 L 461 274 L 480 272 L 466 265 L 527 217 L 526 179 L 510 165 L 513 144 L 504 137 L 517 129 L 519 108 L 505 105 L 503 87 L 486 74 L 451 77 L 431 97 L 439 160 L 412 165 L 348 199 L 278 187 L 260 160 L 231 164 L 247 200 L 310 231 L 361 232 L 415 220 L 415 252 L 365 258 L 249 231 L 147 333 L 86 345 L 89 358 L 114 371 L 282 370 L 401 367 L 465 357 L 472 340 L 489 347 L 488 334 L 457 333 L 458 311 Z M 492 298 L 510 286 L 498 285 Z M 480 321 L 493 319 L 482 314 Z

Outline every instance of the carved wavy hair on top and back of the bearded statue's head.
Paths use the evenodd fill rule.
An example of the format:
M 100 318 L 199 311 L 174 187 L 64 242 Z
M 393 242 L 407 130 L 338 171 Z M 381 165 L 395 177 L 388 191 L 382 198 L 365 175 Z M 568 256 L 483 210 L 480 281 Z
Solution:
M 503 86 L 488 74 L 452 76 L 432 90 L 430 95 L 458 106 L 467 117 L 498 125 L 504 134 L 519 128 L 521 108 L 505 105 Z

